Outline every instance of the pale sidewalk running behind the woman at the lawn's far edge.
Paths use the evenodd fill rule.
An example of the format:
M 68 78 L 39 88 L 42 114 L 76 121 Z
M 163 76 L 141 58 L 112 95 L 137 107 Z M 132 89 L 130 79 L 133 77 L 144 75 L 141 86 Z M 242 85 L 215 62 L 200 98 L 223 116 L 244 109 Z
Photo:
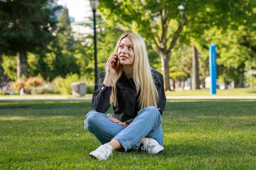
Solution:
M 256 99 L 256 96 L 166 96 L 166 99 Z M 92 100 L 92 97 L 63 97 L 63 96 L 0 96 L 1 100 Z

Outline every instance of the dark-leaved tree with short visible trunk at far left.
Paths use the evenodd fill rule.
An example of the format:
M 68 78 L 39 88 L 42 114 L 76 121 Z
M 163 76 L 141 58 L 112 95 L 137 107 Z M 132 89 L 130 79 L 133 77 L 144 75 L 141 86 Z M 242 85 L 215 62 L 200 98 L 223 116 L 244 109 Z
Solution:
M 54 0 L 0 0 L 0 54 L 17 55 L 17 77 L 27 76 L 27 53 L 53 40 Z

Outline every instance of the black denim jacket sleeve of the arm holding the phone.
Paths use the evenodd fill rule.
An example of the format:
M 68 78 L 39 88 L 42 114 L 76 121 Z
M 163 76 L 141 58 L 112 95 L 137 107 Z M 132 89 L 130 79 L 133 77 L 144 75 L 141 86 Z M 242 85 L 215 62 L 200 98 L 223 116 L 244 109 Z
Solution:
M 100 74 L 99 89 L 92 95 L 92 110 L 96 110 L 100 113 L 106 113 L 110 108 L 109 99 L 112 93 L 112 87 L 108 87 L 103 84 L 105 73 Z

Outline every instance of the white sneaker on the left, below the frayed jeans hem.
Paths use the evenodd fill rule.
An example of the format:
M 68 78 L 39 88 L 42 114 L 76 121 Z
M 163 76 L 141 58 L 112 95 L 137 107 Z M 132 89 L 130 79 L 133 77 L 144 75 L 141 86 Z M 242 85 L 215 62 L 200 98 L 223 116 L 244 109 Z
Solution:
M 90 156 L 98 160 L 107 160 L 109 156 L 112 156 L 112 146 L 109 144 L 101 145 L 96 150 L 90 153 Z

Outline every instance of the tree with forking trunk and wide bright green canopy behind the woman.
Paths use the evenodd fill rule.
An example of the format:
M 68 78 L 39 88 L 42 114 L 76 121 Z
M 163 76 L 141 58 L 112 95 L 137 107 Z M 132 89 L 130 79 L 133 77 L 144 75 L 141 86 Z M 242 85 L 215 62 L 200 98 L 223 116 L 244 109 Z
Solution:
M 110 23 L 117 22 L 128 31 L 140 33 L 161 57 L 164 89 L 169 90 L 169 62 L 181 35 L 195 36 L 213 25 L 227 26 L 234 16 L 243 18 L 250 1 L 180 0 L 102 0 L 99 11 Z M 239 6 L 240 5 L 240 6 Z M 243 10 L 238 9 L 243 7 Z M 241 19 L 239 19 L 240 21 Z M 189 38 L 186 38 L 189 41 Z

